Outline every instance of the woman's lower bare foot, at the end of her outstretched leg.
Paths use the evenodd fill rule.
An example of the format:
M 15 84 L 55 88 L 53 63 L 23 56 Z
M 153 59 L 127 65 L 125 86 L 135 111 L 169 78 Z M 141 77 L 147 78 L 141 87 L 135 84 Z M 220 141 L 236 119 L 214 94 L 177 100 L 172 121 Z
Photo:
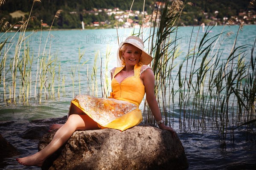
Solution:
M 31 156 L 27 156 L 24 158 L 16 158 L 16 160 L 25 166 L 36 166 L 41 167 L 44 163 L 44 159 L 41 159 L 40 156 L 36 153 Z

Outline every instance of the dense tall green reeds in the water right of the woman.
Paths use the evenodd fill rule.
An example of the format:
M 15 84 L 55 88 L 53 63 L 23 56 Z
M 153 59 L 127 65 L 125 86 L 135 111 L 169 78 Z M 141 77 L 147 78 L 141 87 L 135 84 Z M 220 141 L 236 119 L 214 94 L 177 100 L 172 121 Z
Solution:
M 179 38 L 171 40 L 170 35 L 175 32 L 177 35 L 178 27 L 175 26 L 175 22 L 178 22 L 181 15 L 177 9 L 182 11 L 185 5 L 189 4 L 166 2 L 165 8 L 153 12 L 160 18 L 160 22 L 154 26 L 148 38 L 151 55 L 154 57 L 152 68 L 156 78 L 157 100 L 166 124 L 167 118 L 170 124 L 171 113 L 173 120 L 173 113 L 179 108 L 180 129 L 205 130 L 207 123 L 211 123 L 212 128 L 219 129 L 221 141 L 225 143 L 231 124 L 234 127 L 237 122 L 250 122 L 253 126 L 251 123 L 256 115 L 256 57 L 253 55 L 255 42 L 251 50 L 250 63 L 245 63 L 247 45 L 236 47 L 241 23 L 231 52 L 227 59 L 223 59 L 223 51 L 220 51 L 220 46 L 216 49 L 216 45 L 224 34 L 224 28 L 220 34 L 209 38 L 209 32 L 214 27 L 208 26 L 204 36 L 199 40 L 199 27 L 195 45 L 192 46 L 189 42 L 185 59 L 175 62 L 178 57 L 182 57 L 177 43 Z M 177 6 L 179 7 L 175 8 Z M 154 23 L 157 23 L 156 20 Z M 174 70 L 177 70 L 176 75 L 173 74 Z M 183 70 L 185 76 L 182 76 Z M 143 117 L 144 122 L 153 122 L 147 105 Z

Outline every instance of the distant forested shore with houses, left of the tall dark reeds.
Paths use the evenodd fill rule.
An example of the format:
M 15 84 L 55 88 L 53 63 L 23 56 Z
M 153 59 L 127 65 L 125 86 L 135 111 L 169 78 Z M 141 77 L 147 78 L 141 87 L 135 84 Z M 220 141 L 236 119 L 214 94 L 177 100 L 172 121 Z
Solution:
M 143 0 L 134 2 L 132 10 L 143 11 Z M 154 1 L 147 0 L 145 4 L 145 10 L 150 12 L 151 4 Z M 21 10 L 23 12 L 29 11 L 32 7 L 33 0 L 8 0 L 3 6 L 0 7 L 0 10 L 3 13 L 0 14 L 1 18 L 6 18 L 9 23 L 12 25 L 22 21 L 22 17 L 12 18 L 9 13 Z M 63 10 L 61 17 L 58 21 L 53 23 L 53 28 L 81 28 L 81 21 L 83 20 L 85 25 L 90 25 L 93 22 L 109 21 L 112 26 L 115 25 L 114 16 L 108 16 L 105 11 L 99 12 L 98 15 L 92 14 L 90 11 L 93 9 L 102 9 L 102 8 L 119 8 L 120 10 L 130 9 L 132 0 L 42 0 L 41 3 L 35 3 L 34 10 L 32 11 L 32 16 L 35 16 L 38 20 L 34 20 L 29 23 L 29 28 L 40 28 L 41 22 L 50 25 L 52 23 L 52 17 L 55 15 L 55 12 L 59 9 Z M 25 20 L 28 15 L 25 15 Z M 106 24 L 107 26 L 108 24 Z

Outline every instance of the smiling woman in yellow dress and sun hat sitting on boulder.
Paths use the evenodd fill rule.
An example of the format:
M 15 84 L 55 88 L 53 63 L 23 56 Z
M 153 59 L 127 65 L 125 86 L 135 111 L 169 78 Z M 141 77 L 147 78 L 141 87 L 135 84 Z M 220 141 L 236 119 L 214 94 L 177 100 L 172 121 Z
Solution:
M 114 128 L 126 130 L 142 121 L 139 110 L 140 102 L 146 93 L 149 107 L 160 129 L 172 127 L 163 124 L 160 109 L 154 95 L 154 74 L 147 65 L 152 57 L 144 51 L 143 41 L 135 36 L 128 37 L 121 43 L 117 58 L 123 67 L 111 70 L 111 96 L 108 99 L 87 95 L 78 95 L 71 101 L 69 117 L 59 128 L 47 147 L 32 156 L 19 158 L 17 161 L 26 166 L 41 167 L 44 160 L 58 150 L 76 130 L 96 130 Z

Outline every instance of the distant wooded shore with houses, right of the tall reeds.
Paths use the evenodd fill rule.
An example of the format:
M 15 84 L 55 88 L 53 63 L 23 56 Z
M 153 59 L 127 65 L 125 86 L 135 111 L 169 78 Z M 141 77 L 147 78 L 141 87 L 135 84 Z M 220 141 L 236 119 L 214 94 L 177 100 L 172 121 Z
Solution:
M 208 25 L 209 23 L 211 23 L 212 25 L 215 25 L 215 23 L 217 23 L 218 25 L 224 25 L 225 23 L 227 23 L 227 20 L 233 16 L 237 17 L 238 21 L 235 21 L 235 24 L 237 25 L 239 25 L 241 20 L 243 20 L 244 16 L 250 16 L 250 18 L 244 20 L 245 23 L 256 24 L 255 18 L 253 19 L 253 15 L 256 14 L 256 6 L 254 4 L 248 8 L 250 0 L 186 1 L 186 3 L 188 2 L 192 3 L 192 5 L 188 5 L 183 9 L 183 15 L 180 17 L 180 25 L 200 25 L 201 23 L 206 23 L 206 25 Z M 226 17 L 226 20 L 224 20 L 224 17 Z

